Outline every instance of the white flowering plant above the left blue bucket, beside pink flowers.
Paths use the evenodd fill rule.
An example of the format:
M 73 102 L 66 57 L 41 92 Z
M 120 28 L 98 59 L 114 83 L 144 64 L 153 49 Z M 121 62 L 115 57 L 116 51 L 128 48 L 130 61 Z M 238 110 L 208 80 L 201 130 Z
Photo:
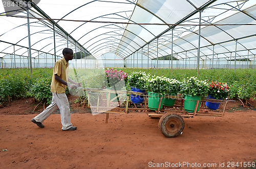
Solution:
M 145 71 L 133 71 L 131 75 L 127 77 L 127 81 L 130 86 L 144 90 L 146 80 L 149 76 L 151 75 L 146 74 Z

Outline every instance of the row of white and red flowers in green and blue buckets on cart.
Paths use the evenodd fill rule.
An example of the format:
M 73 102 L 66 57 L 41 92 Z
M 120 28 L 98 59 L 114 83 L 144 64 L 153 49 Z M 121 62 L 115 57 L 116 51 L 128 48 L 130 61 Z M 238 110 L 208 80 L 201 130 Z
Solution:
M 199 110 L 201 100 L 207 94 L 212 99 L 225 99 L 229 91 L 227 83 L 209 83 L 209 81 L 199 80 L 197 77 L 187 77 L 183 81 L 179 81 L 164 76 L 146 74 L 144 71 L 134 71 L 124 80 L 131 86 L 132 91 L 147 91 L 148 107 L 153 110 L 157 110 L 161 96 L 163 96 L 163 99 L 160 103 L 160 108 L 162 108 L 162 105 L 172 107 L 175 103 L 175 98 L 170 98 L 168 95 L 177 95 L 179 93 L 184 96 L 184 109 L 188 112 L 194 112 L 197 100 L 199 100 L 197 109 Z M 134 103 L 142 103 L 144 96 L 132 94 L 131 100 Z M 218 109 L 219 103 L 206 102 L 206 106 L 211 109 Z

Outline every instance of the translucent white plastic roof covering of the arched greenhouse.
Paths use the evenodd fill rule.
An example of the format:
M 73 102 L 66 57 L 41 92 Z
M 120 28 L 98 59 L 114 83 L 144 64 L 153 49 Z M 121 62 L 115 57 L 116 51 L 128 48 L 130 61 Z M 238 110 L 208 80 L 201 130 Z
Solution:
M 136 51 L 150 58 L 172 54 L 172 28 L 174 57 L 197 57 L 198 9 L 202 9 L 201 59 L 211 59 L 212 54 L 215 58 L 233 57 L 236 43 L 237 56 L 249 54 L 253 58 L 256 54 L 254 0 L 44 0 L 37 7 L 69 34 L 71 49 L 87 51 L 95 58 L 105 53 L 127 58 Z M 13 54 L 14 48 L 15 55 L 28 56 L 23 47 L 28 47 L 27 18 L 6 17 L 3 7 L 0 13 L 0 57 Z M 23 10 L 17 15 L 27 13 Z M 44 18 L 34 8 L 30 9 L 30 17 Z M 176 23 L 179 25 L 172 25 Z M 61 56 L 67 47 L 67 35 L 57 27 L 55 31 L 56 55 Z M 30 18 L 30 34 L 32 57 L 37 57 L 38 51 L 54 54 L 53 26 L 49 20 Z

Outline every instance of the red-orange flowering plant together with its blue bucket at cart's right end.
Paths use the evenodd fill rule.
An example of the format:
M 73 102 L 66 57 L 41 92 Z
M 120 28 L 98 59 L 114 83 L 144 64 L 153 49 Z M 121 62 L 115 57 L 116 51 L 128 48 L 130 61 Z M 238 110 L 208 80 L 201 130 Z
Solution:
M 208 98 L 210 99 L 225 99 L 228 96 L 229 86 L 225 82 L 211 82 L 208 83 L 209 91 L 208 91 Z M 206 107 L 212 110 L 216 110 L 220 107 L 219 102 L 206 102 Z

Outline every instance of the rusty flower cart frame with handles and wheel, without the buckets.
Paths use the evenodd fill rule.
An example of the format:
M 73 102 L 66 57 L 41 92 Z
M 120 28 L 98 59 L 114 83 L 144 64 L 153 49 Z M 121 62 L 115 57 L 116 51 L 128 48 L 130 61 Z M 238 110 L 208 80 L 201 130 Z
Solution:
M 201 103 L 203 102 L 214 102 L 214 103 L 220 103 L 222 105 L 222 110 L 221 111 L 211 111 L 211 112 L 201 112 L 197 111 L 197 107 L 199 105 L 199 100 L 196 102 L 195 110 L 194 112 L 187 112 L 184 110 L 184 98 L 181 95 L 167 95 L 165 94 L 165 98 L 172 98 L 180 101 L 179 105 L 174 105 L 176 109 L 173 107 L 164 107 L 160 109 L 161 106 L 161 101 L 162 101 L 162 96 L 160 97 L 160 102 L 158 105 L 158 110 L 153 112 L 154 110 L 151 110 L 147 107 L 147 94 L 141 93 L 141 92 L 136 92 L 136 91 L 122 91 L 122 90 L 110 90 L 110 89 L 92 89 L 92 88 L 81 88 L 79 87 L 78 89 L 80 90 L 86 90 L 88 93 L 88 107 L 91 109 L 96 109 L 97 113 L 106 113 L 106 119 L 105 123 L 108 123 L 109 120 L 109 113 L 128 113 L 128 111 L 134 111 L 134 110 L 142 110 L 142 111 L 147 111 L 148 116 L 152 118 L 159 118 L 159 123 L 158 127 L 160 131 L 162 132 L 163 135 L 166 137 L 176 137 L 179 134 L 182 133 L 184 129 L 184 120 L 183 118 L 190 118 L 194 116 L 211 116 L 211 117 L 223 117 L 226 109 L 226 105 L 228 103 L 227 100 L 216 100 L 216 99 L 208 99 L 204 98 Z M 97 105 L 90 106 L 90 94 L 97 94 Z M 115 93 L 114 98 L 110 98 L 110 96 L 106 96 L 104 98 L 104 95 L 106 93 L 111 94 Z M 130 98 L 131 94 L 137 96 L 141 95 L 144 96 L 144 102 L 141 104 L 142 108 L 129 108 L 129 103 L 131 103 Z M 126 100 L 124 101 L 125 105 L 124 107 L 120 107 L 121 103 L 118 98 L 123 95 Z M 118 100 L 118 107 L 111 107 L 111 103 L 114 100 Z M 106 106 L 100 106 L 99 102 L 100 100 L 105 100 L 106 101 Z M 135 105 L 135 104 L 134 104 Z M 201 107 L 202 109 L 203 107 Z

